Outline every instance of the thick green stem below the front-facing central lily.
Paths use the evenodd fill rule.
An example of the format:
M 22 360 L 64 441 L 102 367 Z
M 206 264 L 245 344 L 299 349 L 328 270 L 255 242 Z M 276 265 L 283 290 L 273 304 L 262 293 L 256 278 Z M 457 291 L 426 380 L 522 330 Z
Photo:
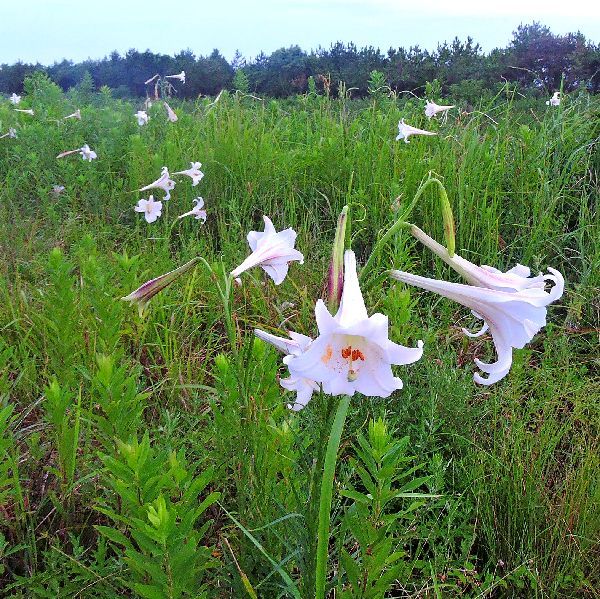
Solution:
M 317 536 L 317 565 L 315 598 L 325 599 L 325 584 L 327 578 L 327 558 L 329 549 L 329 521 L 331 515 L 331 500 L 333 497 L 333 478 L 335 476 L 335 466 L 337 463 L 337 452 L 344 430 L 346 413 L 350 404 L 350 397 L 345 395 L 340 401 L 331 434 L 327 442 L 327 451 L 325 453 L 325 464 L 323 466 L 323 479 L 321 481 L 321 500 L 319 502 L 319 528 Z

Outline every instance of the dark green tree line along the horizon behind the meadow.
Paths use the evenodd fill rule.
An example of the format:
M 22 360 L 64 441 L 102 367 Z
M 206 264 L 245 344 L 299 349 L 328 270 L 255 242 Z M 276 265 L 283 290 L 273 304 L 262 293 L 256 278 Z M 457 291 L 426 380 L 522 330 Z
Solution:
M 177 85 L 177 97 L 216 95 L 223 89 L 239 89 L 282 98 L 307 91 L 336 93 L 340 82 L 352 96 L 365 96 L 377 71 L 378 81 L 390 90 L 422 93 L 425 83 L 437 80 L 442 93 L 477 98 L 493 92 L 506 81 L 524 92 L 546 94 L 561 86 L 567 90 L 600 89 L 600 46 L 581 33 L 555 35 L 540 23 L 520 25 L 506 48 L 484 53 L 471 37 L 439 44 L 434 51 L 413 46 L 390 48 L 385 54 L 372 46 L 358 48 L 337 42 L 311 52 L 294 45 L 270 55 L 261 53 L 245 60 L 236 52 L 231 61 L 214 50 L 195 56 L 183 50 L 175 56 L 150 50 L 129 50 L 123 56 L 112 52 L 100 60 L 50 66 L 17 62 L 0 68 L 0 92 L 21 92 L 25 77 L 45 72 L 65 91 L 80 82 L 108 86 L 117 97 L 139 97 L 148 93 L 144 82 L 159 73 L 186 73 L 185 85 Z

